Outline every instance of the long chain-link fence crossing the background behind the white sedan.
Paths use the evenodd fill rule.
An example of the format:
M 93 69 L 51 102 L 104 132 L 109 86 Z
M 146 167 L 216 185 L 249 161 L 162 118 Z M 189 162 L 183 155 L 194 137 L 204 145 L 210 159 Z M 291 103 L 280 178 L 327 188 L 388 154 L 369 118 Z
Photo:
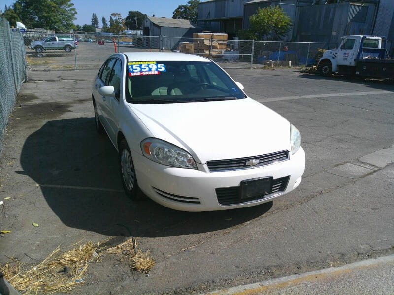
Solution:
M 310 66 L 328 43 L 226 40 L 96 34 L 24 35 L 31 70 L 96 69 L 117 52 L 182 52 L 213 59 L 223 68 Z M 225 35 L 225 34 L 222 34 Z M 321 52 L 320 52 L 321 54 Z

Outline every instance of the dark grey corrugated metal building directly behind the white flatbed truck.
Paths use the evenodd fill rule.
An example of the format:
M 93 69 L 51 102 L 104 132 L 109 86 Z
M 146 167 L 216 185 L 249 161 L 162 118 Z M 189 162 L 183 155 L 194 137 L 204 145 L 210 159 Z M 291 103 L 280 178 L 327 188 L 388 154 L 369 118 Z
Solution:
M 293 41 L 327 42 L 333 47 L 344 35 L 370 35 L 377 1 L 299 6 Z

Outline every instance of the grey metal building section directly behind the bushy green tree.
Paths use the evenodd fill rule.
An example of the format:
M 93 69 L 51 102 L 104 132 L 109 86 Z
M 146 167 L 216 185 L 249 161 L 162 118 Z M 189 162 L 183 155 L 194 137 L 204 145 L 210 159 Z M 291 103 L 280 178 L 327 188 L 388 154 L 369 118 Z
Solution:
M 283 9 L 283 11 L 291 18 L 294 24 L 296 18 L 296 9 L 299 5 L 312 4 L 313 0 L 253 0 L 244 4 L 243 10 L 243 29 L 249 28 L 249 17 L 256 13 L 259 8 L 265 8 L 268 6 L 277 6 Z M 287 36 L 283 37 L 283 41 L 290 41 L 293 35 L 293 28 L 289 31 Z

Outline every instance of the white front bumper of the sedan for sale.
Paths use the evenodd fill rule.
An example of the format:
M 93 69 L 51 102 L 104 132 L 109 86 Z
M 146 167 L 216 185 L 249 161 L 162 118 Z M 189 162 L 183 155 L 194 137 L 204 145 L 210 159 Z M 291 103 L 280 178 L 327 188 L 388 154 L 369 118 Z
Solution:
M 258 168 L 209 172 L 205 164 L 198 170 L 168 167 L 153 162 L 139 153 L 132 153 L 140 189 L 155 202 L 175 210 L 214 211 L 250 207 L 271 201 L 295 189 L 305 170 L 305 152 L 300 148 L 288 161 Z M 221 205 L 216 188 L 239 186 L 242 180 L 272 176 L 274 179 L 290 176 L 285 191 L 266 195 L 263 199 L 235 205 Z M 158 193 L 159 192 L 159 193 Z M 165 192 L 166 197 L 160 192 Z M 184 196 L 181 199 L 177 196 Z M 196 203 L 199 201 L 199 204 Z

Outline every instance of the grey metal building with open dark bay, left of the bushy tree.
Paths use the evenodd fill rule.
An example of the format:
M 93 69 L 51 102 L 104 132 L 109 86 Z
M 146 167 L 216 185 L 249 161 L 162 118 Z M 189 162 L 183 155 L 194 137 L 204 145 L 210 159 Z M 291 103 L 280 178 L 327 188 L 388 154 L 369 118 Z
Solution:
M 198 4 L 197 24 L 205 31 L 227 33 L 242 29 L 243 4 L 250 0 L 208 0 Z

